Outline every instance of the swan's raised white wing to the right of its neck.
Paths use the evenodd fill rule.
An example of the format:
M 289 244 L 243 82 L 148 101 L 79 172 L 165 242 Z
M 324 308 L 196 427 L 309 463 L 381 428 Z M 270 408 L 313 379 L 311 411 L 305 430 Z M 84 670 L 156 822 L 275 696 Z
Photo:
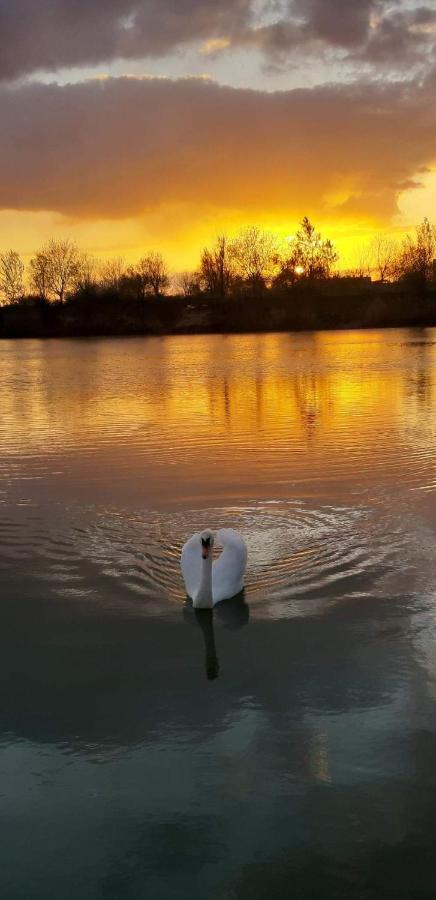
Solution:
M 221 528 L 216 539 L 224 547 L 212 566 L 212 597 L 214 603 L 219 603 L 239 594 L 244 587 L 247 546 L 233 528 Z

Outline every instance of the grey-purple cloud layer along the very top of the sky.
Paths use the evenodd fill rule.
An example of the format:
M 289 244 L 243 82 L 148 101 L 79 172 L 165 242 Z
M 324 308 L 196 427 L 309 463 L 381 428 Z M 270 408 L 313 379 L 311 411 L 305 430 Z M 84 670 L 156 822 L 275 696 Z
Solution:
M 433 0 L 0 0 L 0 79 L 158 57 L 226 39 L 285 60 L 326 52 L 409 66 L 434 47 Z M 266 16 L 266 18 L 265 18 Z M 267 22 L 268 24 L 265 24 Z M 342 57 L 341 57 L 342 54 Z

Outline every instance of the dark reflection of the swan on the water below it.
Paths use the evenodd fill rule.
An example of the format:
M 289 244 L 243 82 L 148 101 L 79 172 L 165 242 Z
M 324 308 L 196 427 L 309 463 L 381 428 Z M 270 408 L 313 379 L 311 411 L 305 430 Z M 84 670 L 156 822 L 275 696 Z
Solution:
M 224 628 L 243 628 L 250 618 L 250 607 L 245 602 L 245 591 L 241 591 L 237 597 L 231 600 L 222 600 L 213 609 L 195 609 L 191 600 L 186 600 L 183 607 L 183 616 L 186 622 L 195 624 L 201 628 L 205 649 L 205 670 L 208 681 L 218 678 L 220 664 L 215 646 L 214 618 Z

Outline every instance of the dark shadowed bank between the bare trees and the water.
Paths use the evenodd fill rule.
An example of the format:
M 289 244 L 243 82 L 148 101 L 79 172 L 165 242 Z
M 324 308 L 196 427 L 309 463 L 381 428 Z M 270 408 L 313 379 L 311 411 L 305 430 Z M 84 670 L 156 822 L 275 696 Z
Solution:
M 436 284 L 337 279 L 261 296 L 161 297 L 84 293 L 64 304 L 35 298 L 0 309 L 0 338 L 207 334 L 436 325 Z

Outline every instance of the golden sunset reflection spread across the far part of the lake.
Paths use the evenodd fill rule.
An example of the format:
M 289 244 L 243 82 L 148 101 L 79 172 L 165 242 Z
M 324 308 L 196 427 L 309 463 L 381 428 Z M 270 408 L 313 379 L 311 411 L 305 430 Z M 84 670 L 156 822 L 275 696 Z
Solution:
M 289 479 L 413 475 L 434 448 L 433 337 L 5 342 L 1 454 L 74 453 L 132 477 L 175 466 L 197 483 L 213 466 L 235 495 L 248 473 L 275 494 Z

